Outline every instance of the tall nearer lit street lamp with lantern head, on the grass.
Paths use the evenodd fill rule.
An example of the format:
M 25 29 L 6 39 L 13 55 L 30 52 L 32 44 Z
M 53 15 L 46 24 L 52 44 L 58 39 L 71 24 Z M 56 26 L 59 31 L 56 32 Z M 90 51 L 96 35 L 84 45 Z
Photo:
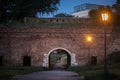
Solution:
M 102 13 L 102 21 L 104 23 L 104 74 L 107 75 L 107 51 L 106 51 L 106 23 L 108 20 L 108 14 Z

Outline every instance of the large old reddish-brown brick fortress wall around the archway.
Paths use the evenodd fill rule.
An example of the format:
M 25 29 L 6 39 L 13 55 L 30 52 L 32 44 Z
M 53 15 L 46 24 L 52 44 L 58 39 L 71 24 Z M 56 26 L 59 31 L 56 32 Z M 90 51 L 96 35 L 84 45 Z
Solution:
M 92 35 L 90 54 L 85 37 Z M 31 66 L 49 67 L 49 55 L 62 49 L 71 56 L 71 66 L 86 65 L 90 56 L 96 56 L 98 63 L 104 56 L 102 29 L 90 28 L 27 28 L 0 29 L 0 56 L 6 66 L 23 66 L 23 56 L 31 56 Z M 107 54 L 120 50 L 120 36 L 113 39 L 107 33 Z

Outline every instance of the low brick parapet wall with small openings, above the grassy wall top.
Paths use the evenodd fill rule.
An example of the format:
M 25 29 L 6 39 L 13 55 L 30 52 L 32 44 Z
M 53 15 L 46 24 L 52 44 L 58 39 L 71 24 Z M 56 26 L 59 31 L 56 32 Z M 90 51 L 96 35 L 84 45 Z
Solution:
M 86 21 L 90 21 L 90 19 L 86 18 L 33 18 L 33 17 L 25 17 L 24 22 L 33 22 L 33 23 L 38 23 L 41 21 L 42 22 L 50 22 L 50 23 L 70 23 L 70 22 L 83 22 L 85 23 Z

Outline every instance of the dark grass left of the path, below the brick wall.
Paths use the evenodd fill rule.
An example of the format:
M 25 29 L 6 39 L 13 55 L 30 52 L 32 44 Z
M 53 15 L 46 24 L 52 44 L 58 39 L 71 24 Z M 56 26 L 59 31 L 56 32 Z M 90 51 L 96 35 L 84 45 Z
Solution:
M 10 80 L 15 76 L 47 70 L 43 67 L 0 67 L 0 80 Z

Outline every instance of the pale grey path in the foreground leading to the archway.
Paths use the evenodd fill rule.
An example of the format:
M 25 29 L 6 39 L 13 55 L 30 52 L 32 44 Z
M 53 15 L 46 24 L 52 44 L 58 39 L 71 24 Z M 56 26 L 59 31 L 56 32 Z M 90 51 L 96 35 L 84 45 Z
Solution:
M 83 78 L 70 71 L 42 71 L 19 76 L 14 80 L 83 80 Z

